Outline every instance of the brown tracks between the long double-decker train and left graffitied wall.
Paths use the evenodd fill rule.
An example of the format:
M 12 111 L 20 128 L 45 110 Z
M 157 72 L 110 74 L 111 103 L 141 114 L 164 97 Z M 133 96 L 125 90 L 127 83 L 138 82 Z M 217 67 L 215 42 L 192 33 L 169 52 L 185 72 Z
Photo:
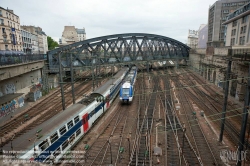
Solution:
M 86 85 L 84 85 L 86 84 Z M 70 89 L 70 84 L 64 85 L 64 89 Z M 91 81 L 82 82 L 75 87 L 75 96 L 77 98 L 82 98 L 82 95 L 87 93 L 91 89 Z M 68 107 L 72 104 L 71 91 L 65 93 L 65 105 Z M 49 104 L 48 104 L 49 103 Z M 11 121 L 7 122 L 1 126 L 2 139 L 1 146 L 4 146 L 11 141 L 11 138 L 18 137 L 30 130 L 47 119 L 53 117 L 62 110 L 61 99 L 60 99 L 60 89 L 56 90 L 54 93 L 50 94 L 47 98 L 41 100 L 34 107 L 29 108 L 27 111 L 22 112 L 18 117 L 15 117 Z M 19 128 L 20 125 L 22 128 Z M 9 134 L 13 130 L 16 130 L 14 134 Z

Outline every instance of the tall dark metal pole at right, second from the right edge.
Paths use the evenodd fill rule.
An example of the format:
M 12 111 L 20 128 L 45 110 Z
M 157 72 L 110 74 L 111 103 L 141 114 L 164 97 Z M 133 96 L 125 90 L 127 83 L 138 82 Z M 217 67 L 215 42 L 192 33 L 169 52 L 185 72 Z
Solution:
M 225 87 L 225 95 L 224 95 L 224 104 L 223 104 L 223 110 L 222 110 L 222 119 L 221 119 L 221 130 L 220 130 L 220 138 L 219 141 L 222 142 L 223 140 L 223 132 L 225 127 L 225 117 L 226 117 L 226 111 L 227 111 L 227 98 L 228 98 L 228 87 L 229 87 L 229 76 L 231 73 L 231 64 L 232 64 L 232 49 L 228 50 L 228 54 L 230 56 L 228 60 L 227 65 L 227 74 L 226 74 L 226 87 Z

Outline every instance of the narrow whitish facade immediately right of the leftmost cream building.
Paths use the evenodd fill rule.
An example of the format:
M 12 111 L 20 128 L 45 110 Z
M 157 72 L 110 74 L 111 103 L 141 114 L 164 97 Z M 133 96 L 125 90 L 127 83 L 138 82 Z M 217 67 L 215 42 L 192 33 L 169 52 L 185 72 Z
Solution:
M 32 53 L 32 34 L 28 31 L 21 29 L 23 52 L 26 54 Z

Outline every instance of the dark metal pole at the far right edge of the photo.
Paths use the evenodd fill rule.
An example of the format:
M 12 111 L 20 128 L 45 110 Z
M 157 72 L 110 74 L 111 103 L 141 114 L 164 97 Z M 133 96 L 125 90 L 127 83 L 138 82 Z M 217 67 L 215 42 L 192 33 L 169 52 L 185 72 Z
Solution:
M 237 166 L 241 165 L 241 152 L 244 150 L 244 144 L 245 144 L 245 133 L 247 129 L 247 119 L 248 119 L 248 108 L 249 108 L 249 95 L 250 95 L 250 63 L 249 65 L 249 71 L 248 71 L 248 81 L 247 81 L 247 92 L 245 94 L 245 102 L 244 102 L 244 108 L 243 108 L 243 116 L 242 116 L 242 123 L 241 123 L 241 131 L 240 131 L 240 142 L 239 142 L 239 155 L 238 155 L 238 163 Z

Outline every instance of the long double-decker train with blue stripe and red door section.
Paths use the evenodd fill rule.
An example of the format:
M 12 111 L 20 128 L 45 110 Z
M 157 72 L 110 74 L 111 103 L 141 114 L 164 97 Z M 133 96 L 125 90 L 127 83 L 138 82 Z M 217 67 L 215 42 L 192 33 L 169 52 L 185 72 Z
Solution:
M 122 68 L 113 77 L 80 102 L 68 107 L 36 128 L 13 139 L 3 147 L 3 152 L 30 162 L 60 162 L 69 151 L 89 131 L 98 118 L 110 107 L 120 86 L 129 73 Z M 42 117 L 41 117 L 42 118 Z M 39 119 L 38 119 L 39 120 Z

